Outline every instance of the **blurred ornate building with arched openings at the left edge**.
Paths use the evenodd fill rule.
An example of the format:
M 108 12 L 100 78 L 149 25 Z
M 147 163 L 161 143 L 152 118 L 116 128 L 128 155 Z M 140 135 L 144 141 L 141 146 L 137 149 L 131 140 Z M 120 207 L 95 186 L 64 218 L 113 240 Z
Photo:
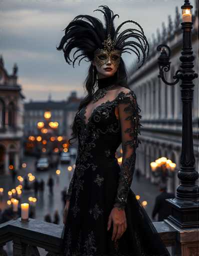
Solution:
M 22 156 L 23 99 L 17 65 L 8 74 L 0 56 L 0 174 L 18 169 Z

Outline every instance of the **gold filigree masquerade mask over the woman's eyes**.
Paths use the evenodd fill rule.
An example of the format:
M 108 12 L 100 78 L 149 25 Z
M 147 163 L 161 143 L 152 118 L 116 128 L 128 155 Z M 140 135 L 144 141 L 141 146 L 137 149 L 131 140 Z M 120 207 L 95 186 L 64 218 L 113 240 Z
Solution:
M 94 61 L 97 65 L 102 66 L 107 63 L 110 59 L 111 63 L 118 67 L 120 62 L 120 50 L 114 49 L 115 42 L 111 40 L 108 34 L 107 39 L 102 43 L 104 45 L 103 49 L 96 49 L 94 52 Z

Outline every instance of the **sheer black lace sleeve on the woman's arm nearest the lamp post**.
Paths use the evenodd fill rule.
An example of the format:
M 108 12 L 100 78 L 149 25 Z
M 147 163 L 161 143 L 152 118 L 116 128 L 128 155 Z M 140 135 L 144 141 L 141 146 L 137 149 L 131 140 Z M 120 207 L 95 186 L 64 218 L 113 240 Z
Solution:
M 117 193 L 114 207 L 125 208 L 128 191 L 134 172 L 136 147 L 138 147 L 140 108 L 136 101 L 136 95 L 128 88 L 123 89 L 118 97 L 119 122 L 121 127 L 122 162 L 119 172 Z

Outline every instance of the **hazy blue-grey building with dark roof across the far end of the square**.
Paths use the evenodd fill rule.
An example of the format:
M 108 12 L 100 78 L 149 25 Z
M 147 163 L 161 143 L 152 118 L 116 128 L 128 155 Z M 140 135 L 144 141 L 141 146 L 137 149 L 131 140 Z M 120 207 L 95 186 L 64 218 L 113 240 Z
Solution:
M 78 109 L 80 98 L 72 91 L 66 100 L 54 101 L 49 96 L 47 101 L 32 101 L 24 103 L 24 135 L 37 135 L 37 122 L 43 121 L 43 113 L 51 112 L 51 120 L 58 122 L 58 134 L 70 138 L 71 124 Z

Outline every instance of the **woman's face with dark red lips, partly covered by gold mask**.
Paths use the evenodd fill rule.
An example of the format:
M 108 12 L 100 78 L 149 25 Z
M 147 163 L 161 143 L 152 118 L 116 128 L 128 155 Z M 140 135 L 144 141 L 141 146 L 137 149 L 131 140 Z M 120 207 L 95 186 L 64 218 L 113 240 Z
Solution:
M 92 64 L 96 66 L 98 78 L 112 76 L 117 71 L 119 62 L 119 50 L 112 50 L 108 52 L 103 49 L 97 49 L 94 53 L 94 59 L 92 60 Z

